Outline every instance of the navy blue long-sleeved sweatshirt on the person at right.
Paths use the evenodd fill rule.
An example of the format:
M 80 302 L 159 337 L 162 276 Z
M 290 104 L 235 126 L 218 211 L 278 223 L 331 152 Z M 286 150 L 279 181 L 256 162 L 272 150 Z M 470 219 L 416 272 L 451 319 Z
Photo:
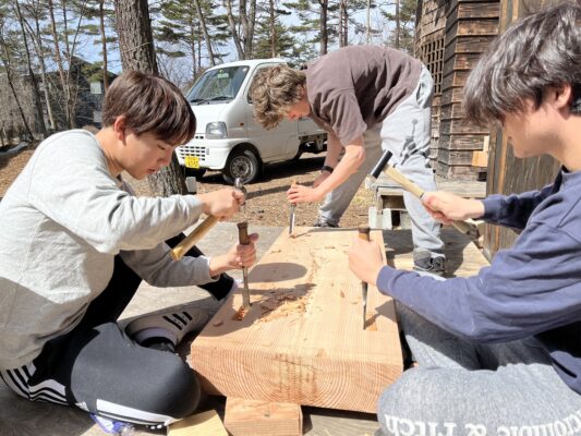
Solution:
M 554 184 L 484 199 L 484 220 L 522 229 L 477 276 L 444 281 L 384 267 L 378 289 L 474 342 L 534 337 L 581 393 L 581 171 Z

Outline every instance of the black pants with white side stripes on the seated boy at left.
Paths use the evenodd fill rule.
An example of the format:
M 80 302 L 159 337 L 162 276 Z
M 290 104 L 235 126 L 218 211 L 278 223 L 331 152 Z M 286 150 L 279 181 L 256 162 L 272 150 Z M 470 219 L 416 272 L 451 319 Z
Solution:
M 174 246 L 183 237 L 168 241 Z M 192 249 L 187 255 L 198 256 Z M 222 275 L 203 286 L 223 298 L 233 279 Z M 16 393 L 76 405 L 92 413 L 149 426 L 192 414 L 199 385 L 190 366 L 170 352 L 133 342 L 117 320 L 141 278 L 117 256 L 111 281 L 69 334 L 48 341 L 32 364 L 0 373 Z

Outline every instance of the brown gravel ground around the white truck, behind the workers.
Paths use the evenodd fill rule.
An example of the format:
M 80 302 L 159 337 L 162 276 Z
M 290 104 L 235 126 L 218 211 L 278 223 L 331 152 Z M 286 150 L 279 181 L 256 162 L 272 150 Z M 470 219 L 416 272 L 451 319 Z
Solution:
M 0 154 L 0 196 L 22 171 L 33 150 L 23 149 L 15 154 Z M 300 184 L 311 184 L 317 178 L 323 166 L 324 155 L 305 154 L 299 160 L 265 166 L 263 177 L 257 183 L 246 186 L 249 202 L 246 215 L 249 223 L 259 226 L 286 227 L 289 223 L 287 190 L 294 179 Z M 57 170 L 57 169 L 56 169 Z M 131 178 L 128 178 L 131 179 Z M 140 195 L 150 195 L 146 180 L 130 180 Z M 225 186 L 221 174 L 208 171 L 197 183 L 197 192 L 205 193 Z M 367 222 L 367 208 L 373 204 L 373 194 L 360 187 L 343 215 L 341 227 L 356 227 Z M 296 206 L 296 226 L 312 226 L 317 218 L 318 204 Z M 233 220 L 240 220 L 234 217 Z

